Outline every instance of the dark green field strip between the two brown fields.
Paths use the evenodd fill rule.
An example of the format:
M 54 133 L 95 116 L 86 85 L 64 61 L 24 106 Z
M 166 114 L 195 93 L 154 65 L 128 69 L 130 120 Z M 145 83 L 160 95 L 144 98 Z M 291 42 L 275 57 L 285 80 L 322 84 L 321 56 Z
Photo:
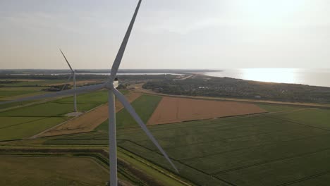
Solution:
M 149 120 L 150 116 L 152 116 L 152 113 L 159 104 L 159 101 L 161 101 L 161 97 L 159 96 L 142 95 L 141 97 L 133 101 L 132 106 L 135 108 L 135 111 L 136 113 L 138 113 L 140 118 L 145 123 L 147 123 L 147 120 Z M 123 109 L 116 114 L 116 126 L 118 129 L 121 129 L 132 127 L 134 128 L 138 127 L 139 125 L 135 122 L 133 117 L 130 116 L 128 111 L 126 111 L 126 109 Z M 108 120 L 99 125 L 96 130 L 108 130 Z

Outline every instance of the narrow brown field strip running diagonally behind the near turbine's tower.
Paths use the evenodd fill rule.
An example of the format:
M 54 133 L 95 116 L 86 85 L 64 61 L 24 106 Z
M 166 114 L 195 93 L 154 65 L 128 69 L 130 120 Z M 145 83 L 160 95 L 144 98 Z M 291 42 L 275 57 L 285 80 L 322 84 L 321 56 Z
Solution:
M 132 102 L 141 94 L 130 92 L 125 95 L 128 101 Z M 116 101 L 116 112 L 123 109 L 123 105 Z M 69 135 L 75 134 L 80 132 L 90 132 L 97 128 L 98 125 L 103 123 L 105 120 L 108 119 L 108 104 L 104 104 L 102 106 L 97 107 L 96 109 L 82 114 L 78 118 L 74 118 L 73 120 L 68 120 L 66 123 L 62 125 L 58 125 L 55 128 L 51 128 L 48 131 L 45 131 L 39 135 L 38 137 L 45 137 L 45 136 L 54 136 L 54 135 Z

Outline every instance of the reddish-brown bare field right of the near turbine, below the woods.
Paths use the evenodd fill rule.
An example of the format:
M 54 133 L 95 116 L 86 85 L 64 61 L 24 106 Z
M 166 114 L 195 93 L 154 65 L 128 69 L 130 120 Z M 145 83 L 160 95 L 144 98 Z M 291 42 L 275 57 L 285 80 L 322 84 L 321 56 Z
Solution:
M 185 120 L 203 120 L 265 112 L 267 111 L 254 104 L 236 101 L 163 97 L 148 124 L 178 123 Z

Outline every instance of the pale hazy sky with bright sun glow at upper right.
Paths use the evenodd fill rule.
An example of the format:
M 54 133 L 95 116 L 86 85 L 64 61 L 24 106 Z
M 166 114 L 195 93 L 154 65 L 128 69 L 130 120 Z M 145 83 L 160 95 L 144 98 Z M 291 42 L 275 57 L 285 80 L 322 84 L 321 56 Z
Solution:
M 110 68 L 138 1 L 1 0 L 0 68 Z M 330 68 L 329 0 L 144 0 L 121 68 Z

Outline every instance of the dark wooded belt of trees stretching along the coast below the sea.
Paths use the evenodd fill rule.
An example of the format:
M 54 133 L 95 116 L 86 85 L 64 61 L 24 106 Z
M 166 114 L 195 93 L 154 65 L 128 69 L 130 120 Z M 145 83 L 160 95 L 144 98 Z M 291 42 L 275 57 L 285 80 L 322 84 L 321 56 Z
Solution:
M 188 96 L 330 102 L 330 87 L 255 82 L 229 77 L 197 75 L 186 80 L 149 81 L 142 87 L 164 94 L 182 94 Z

